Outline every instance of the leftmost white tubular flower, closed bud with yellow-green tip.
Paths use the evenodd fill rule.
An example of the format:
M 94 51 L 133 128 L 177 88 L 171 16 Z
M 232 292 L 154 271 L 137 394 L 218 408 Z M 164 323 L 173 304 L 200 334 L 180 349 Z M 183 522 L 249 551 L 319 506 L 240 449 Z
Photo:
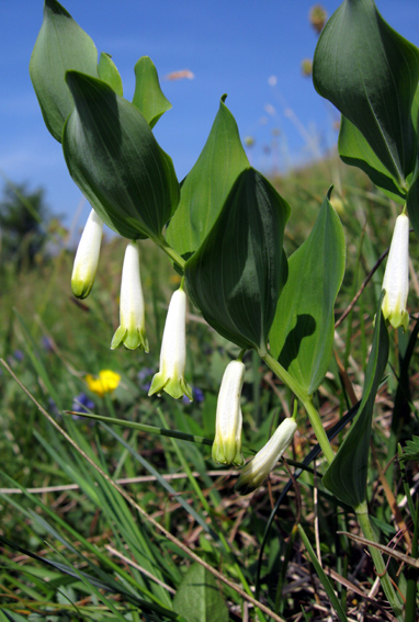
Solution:
M 77 298 L 86 298 L 93 287 L 101 250 L 103 220 L 92 210 L 81 234 L 71 274 L 71 290 Z

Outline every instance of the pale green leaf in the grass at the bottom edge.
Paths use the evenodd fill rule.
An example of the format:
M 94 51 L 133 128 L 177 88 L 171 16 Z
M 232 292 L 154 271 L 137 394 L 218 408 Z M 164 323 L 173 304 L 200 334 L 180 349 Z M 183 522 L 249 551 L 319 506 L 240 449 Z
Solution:
M 173 609 L 188 622 L 228 622 L 228 609 L 217 581 L 201 564 L 193 564 L 173 599 Z

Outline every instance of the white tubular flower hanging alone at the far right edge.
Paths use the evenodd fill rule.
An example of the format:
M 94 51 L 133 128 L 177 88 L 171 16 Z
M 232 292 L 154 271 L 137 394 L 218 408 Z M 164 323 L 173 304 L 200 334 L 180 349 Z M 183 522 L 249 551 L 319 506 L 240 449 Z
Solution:
M 396 219 L 387 265 L 384 273 L 382 310 L 394 328 L 407 330 L 409 314 L 406 310 L 409 293 L 409 218 L 400 214 Z

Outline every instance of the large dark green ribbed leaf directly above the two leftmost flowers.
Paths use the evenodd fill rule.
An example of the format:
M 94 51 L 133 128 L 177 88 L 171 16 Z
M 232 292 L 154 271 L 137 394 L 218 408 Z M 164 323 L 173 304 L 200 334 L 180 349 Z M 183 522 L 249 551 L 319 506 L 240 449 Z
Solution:
M 67 72 L 76 109 L 63 133 L 68 170 L 112 229 L 161 237 L 179 201 L 171 159 L 139 112 L 102 80 Z

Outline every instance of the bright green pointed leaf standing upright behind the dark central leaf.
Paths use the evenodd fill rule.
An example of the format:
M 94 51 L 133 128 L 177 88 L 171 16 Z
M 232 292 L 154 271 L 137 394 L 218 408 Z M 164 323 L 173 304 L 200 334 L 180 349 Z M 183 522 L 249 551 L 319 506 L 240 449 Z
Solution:
M 214 225 L 240 172 L 249 168 L 237 123 L 223 95 L 210 136 L 181 188 L 167 240 L 182 256 L 194 252 Z

